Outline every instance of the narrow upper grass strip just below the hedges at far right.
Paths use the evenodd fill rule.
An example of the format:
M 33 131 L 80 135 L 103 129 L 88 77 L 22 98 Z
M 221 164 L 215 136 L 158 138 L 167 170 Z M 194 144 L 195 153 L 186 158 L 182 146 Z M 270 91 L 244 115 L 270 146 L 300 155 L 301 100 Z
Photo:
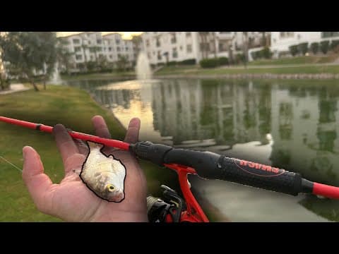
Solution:
M 249 66 L 261 66 L 261 65 L 280 65 L 280 64 L 305 64 L 305 63 L 332 63 L 335 59 L 338 59 L 338 54 L 331 54 L 328 56 L 296 56 L 292 58 L 282 59 L 267 59 L 251 61 Z

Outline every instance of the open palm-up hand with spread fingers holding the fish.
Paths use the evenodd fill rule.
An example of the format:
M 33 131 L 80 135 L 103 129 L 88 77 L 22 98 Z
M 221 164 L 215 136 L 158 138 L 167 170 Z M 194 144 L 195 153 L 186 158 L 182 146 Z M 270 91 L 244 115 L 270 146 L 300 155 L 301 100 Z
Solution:
M 94 116 L 96 135 L 110 138 L 105 120 Z M 138 141 L 140 120 L 131 119 L 125 142 Z M 40 156 L 32 148 L 23 147 L 23 180 L 37 209 L 67 222 L 147 222 L 146 180 L 136 158 L 128 151 L 105 147 L 104 152 L 113 154 L 126 166 L 125 199 L 107 202 L 97 197 L 78 174 L 88 155 L 88 147 L 81 140 L 73 140 L 66 128 L 57 124 L 53 128 L 57 147 L 64 162 L 65 176 L 59 183 L 52 183 L 44 174 Z M 114 150 L 114 152 L 113 152 Z

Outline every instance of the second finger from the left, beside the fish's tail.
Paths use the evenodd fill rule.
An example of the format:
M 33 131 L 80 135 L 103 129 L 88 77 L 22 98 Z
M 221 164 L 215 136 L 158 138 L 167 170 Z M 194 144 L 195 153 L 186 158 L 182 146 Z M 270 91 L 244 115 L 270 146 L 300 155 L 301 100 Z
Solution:
M 65 174 L 67 174 L 72 168 L 69 166 L 69 161 L 76 162 L 79 155 L 78 147 L 74 143 L 73 138 L 67 132 L 66 128 L 62 124 L 57 124 L 53 128 L 53 135 L 57 142 L 57 147 L 61 153 L 62 161 L 64 162 Z

